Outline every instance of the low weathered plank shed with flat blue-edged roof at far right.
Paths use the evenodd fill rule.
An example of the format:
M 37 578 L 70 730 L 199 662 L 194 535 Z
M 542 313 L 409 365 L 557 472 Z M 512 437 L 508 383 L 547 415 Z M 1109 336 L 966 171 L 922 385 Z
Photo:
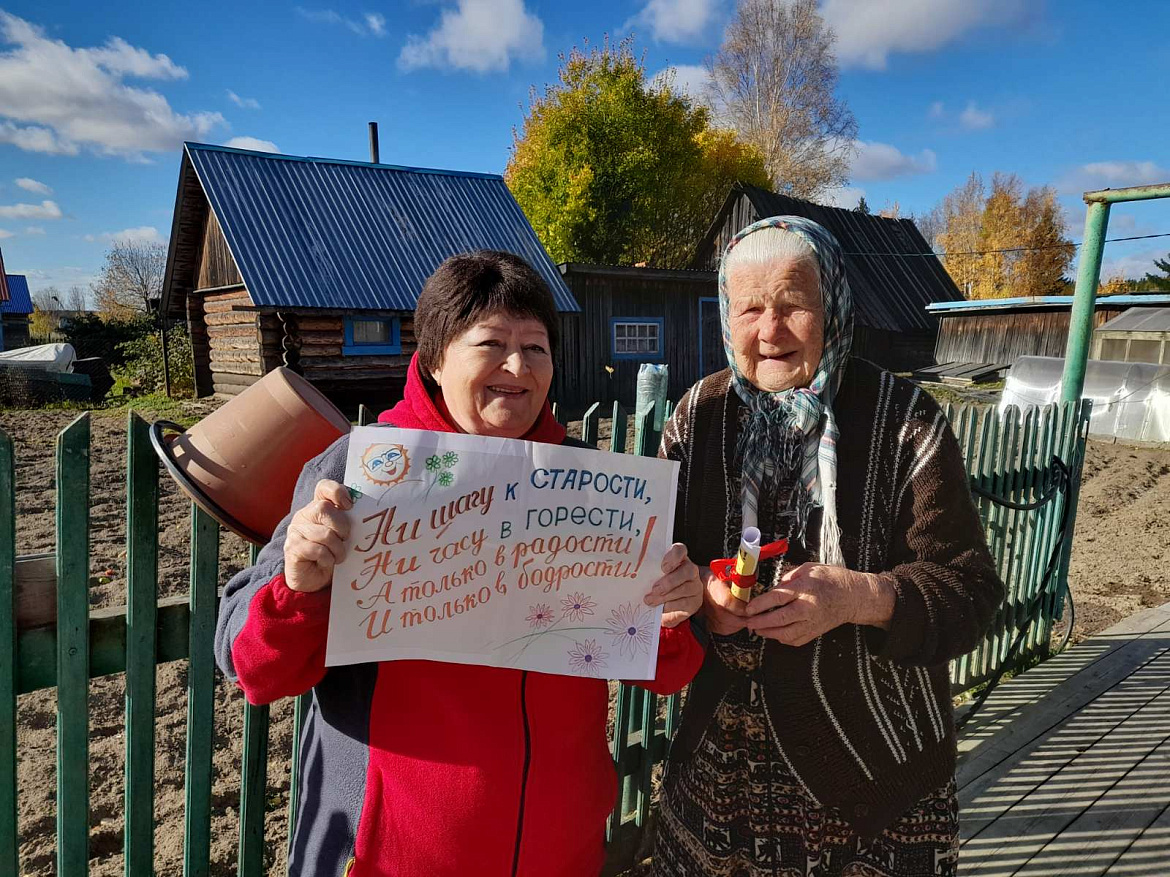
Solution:
M 1168 304 L 1170 295 L 1102 296 L 1096 299 L 1093 325 L 1101 326 L 1130 308 Z M 937 362 L 1010 366 L 1019 357 L 1065 355 L 1073 297 L 938 302 L 927 310 L 938 318 Z

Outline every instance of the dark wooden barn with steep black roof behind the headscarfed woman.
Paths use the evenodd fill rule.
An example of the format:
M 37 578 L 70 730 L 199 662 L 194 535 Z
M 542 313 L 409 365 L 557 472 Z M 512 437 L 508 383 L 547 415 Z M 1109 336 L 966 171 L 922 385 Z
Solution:
M 819 222 L 841 244 L 854 301 L 854 354 L 892 371 L 934 361 L 938 320 L 927 305 L 963 296 L 942 263 L 923 255 L 930 254 L 930 246 L 908 219 L 824 207 L 741 182 L 731 188 L 690 267 L 716 270 L 723 248 L 739 229 L 778 215 Z

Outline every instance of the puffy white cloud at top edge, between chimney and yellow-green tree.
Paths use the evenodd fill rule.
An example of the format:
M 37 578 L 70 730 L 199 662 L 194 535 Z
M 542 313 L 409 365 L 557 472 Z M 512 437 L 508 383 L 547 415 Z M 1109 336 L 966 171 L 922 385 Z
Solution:
M 493 72 L 512 60 L 544 57 L 544 23 L 524 0 L 457 0 L 426 36 L 411 34 L 398 56 L 402 70 L 424 67 Z

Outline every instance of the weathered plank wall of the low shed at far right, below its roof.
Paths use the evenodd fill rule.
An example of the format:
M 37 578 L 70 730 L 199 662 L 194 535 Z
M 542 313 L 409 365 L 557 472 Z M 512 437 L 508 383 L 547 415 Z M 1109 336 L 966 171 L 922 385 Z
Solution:
M 1100 326 L 1121 311 L 1100 308 Z M 942 317 L 936 362 L 1014 362 L 1019 357 L 1064 357 L 1069 310 L 1004 311 Z

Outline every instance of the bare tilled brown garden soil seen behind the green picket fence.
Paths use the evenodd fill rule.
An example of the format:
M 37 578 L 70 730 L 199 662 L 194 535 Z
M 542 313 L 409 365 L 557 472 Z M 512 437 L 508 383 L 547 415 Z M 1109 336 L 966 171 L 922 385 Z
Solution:
M 206 406 L 192 403 L 201 416 Z M 18 551 L 51 551 L 53 442 L 74 412 L 0 412 L 0 429 L 15 440 Z M 607 424 L 603 423 L 603 431 Z M 574 430 L 576 431 L 576 430 Z M 631 433 L 633 430 L 631 429 Z M 579 435 L 579 431 L 578 431 Z M 601 441 L 608 446 L 608 436 Z M 92 415 L 91 580 L 92 606 L 125 601 L 125 415 Z M 190 504 L 164 478 L 160 502 L 159 594 L 186 591 Z M 221 581 L 247 562 L 247 547 L 225 536 Z M 1074 637 L 1102 630 L 1126 615 L 1170 601 L 1170 450 L 1092 443 L 1085 468 L 1071 586 L 1076 600 Z M 91 872 L 122 872 L 124 776 L 121 676 L 90 685 L 92 790 Z M 19 704 L 21 868 L 55 873 L 55 717 L 53 690 L 25 695 Z M 156 868 L 181 873 L 186 665 L 158 669 Z M 212 786 L 213 873 L 235 872 L 242 697 L 220 682 L 216 691 L 215 775 Z M 269 872 L 283 873 L 287 830 L 290 704 L 273 709 L 269 760 Z

